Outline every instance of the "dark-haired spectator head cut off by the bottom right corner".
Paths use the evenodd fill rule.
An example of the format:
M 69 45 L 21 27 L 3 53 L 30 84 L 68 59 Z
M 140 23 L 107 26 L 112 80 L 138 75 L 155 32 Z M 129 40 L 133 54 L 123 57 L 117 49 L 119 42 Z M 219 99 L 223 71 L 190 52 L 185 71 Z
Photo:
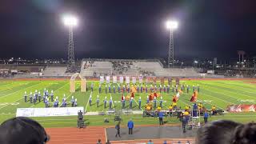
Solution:
M 234 130 L 233 144 L 256 144 L 256 123 L 237 126 Z

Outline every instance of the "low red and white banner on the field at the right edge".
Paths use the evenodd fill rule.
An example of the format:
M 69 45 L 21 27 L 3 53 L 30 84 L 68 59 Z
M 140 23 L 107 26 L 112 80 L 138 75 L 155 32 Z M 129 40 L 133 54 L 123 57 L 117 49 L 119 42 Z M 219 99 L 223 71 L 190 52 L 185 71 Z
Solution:
M 226 110 L 228 112 L 255 112 L 256 105 L 229 105 Z

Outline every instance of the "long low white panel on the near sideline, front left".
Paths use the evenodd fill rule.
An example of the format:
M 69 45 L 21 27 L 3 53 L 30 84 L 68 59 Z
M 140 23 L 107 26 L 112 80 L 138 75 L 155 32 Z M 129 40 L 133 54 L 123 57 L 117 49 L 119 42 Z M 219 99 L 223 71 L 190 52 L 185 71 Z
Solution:
M 18 108 L 16 117 L 52 117 L 78 115 L 83 107 Z

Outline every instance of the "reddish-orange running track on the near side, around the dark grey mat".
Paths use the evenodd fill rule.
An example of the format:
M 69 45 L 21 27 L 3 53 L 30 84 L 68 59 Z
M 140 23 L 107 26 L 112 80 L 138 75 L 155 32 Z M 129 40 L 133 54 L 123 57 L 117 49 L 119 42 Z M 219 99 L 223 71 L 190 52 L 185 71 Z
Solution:
M 98 142 L 98 139 L 102 140 L 102 143 L 106 142 L 106 131 L 102 126 L 89 126 L 85 129 L 78 129 L 75 127 L 66 128 L 47 128 L 47 134 L 50 135 L 50 144 L 90 144 Z M 162 143 L 163 141 L 168 143 L 177 142 L 194 142 L 194 138 L 162 138 L 152 139 L 154 143 Z M 112 141 L 111 143 L 141 143 L 148 142 L 148 139 L 136 139 L 136 140 L 124 140 L 124 141 Z

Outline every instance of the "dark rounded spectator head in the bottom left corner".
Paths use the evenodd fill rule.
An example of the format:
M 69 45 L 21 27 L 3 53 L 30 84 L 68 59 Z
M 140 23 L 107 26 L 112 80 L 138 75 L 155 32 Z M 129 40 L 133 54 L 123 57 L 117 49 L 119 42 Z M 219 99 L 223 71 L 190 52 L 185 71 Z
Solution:
M 10 118 L 0 126 L 1 144 L 43 144 L 49 140 L 46 130 L 30 118 Z

